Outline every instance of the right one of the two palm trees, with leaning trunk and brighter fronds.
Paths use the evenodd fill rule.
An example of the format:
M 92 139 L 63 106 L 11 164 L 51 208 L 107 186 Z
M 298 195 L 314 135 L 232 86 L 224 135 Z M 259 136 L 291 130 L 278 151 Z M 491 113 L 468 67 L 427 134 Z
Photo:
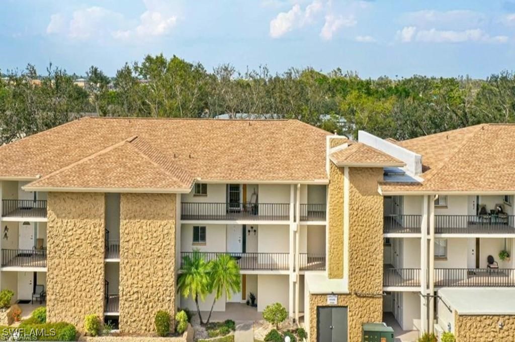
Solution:
M 228 299 L 231 299 L 233 293 L 239 292 L 241 286 L 241 277 L 239 275 L 238 263 L 229 255 L 219 255 L 216 260 L 210 262 L 210 292 L 214 293 L 215 298 L 209 312 L 209 323 L 211 313 L 215 302 L 225 293 Z

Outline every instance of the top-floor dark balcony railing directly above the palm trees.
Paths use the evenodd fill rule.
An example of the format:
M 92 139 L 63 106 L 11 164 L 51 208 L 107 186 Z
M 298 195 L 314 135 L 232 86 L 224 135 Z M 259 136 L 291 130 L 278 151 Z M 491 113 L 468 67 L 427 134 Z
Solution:
M 182 220 L 288 221 L 289 203 L 181 203 Z

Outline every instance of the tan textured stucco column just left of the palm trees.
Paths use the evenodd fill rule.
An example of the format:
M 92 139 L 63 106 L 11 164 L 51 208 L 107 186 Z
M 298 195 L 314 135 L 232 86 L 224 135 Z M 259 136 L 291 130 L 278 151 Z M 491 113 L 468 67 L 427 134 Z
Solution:
M 123 333 L 153 333 L 159 310 L 175 326 L 175 194 L 123 193 L 120 200 L 120 320 Z

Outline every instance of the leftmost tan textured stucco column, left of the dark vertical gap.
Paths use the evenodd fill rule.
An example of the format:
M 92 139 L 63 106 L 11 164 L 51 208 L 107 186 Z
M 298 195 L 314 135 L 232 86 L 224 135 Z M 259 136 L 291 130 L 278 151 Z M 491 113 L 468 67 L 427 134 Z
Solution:
M 47 320 L 83 329 L 104 313 L 103 193 L 48 193 Z

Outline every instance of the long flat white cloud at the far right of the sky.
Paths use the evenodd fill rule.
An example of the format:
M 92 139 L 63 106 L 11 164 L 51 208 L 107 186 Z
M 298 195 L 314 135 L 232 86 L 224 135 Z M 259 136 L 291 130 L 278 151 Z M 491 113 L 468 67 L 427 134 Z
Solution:
M 508 37 L 506 35 L 495 35 L 492 37 L 479 28 L 461 31 L 438 30 L 436 28 L 418 30 L 415 26 L 409 26 L 404 27 L 401 31 L 398 31 L 397 35 L 400 40 L 405 43 L 412 41 L 426 43 L 506 43 L 508 41 Z

